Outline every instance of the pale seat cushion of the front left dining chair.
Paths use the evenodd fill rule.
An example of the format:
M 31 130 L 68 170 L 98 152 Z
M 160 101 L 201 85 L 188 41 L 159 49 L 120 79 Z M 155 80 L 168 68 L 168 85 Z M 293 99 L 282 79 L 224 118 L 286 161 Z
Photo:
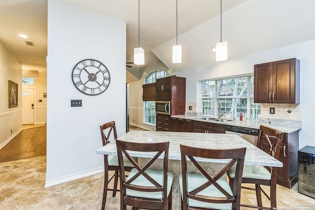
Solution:
M 130 171 L 130 174 L 128 175 L 128 179 L 133 177 L 136 173 L 138 173 L 137 169 L 132 169 Z M 163 183 L 163 171 L 162 170 L 154 170 L 154 169 L 147 169 L 146 173 L 152 177 L 154 180 L 156 180 L 159 184 L 162 185 Z M 172 183 L 174 179 L 174 173 L 171 171 L 168 171 L 167 173 L 167 196 L 169 195 Z M 133 180 L 131 184 L 134 185 L 140 185 L 140 186 L 155 186 L 153 183 L 151 183 L 149 180 L 147 180 L 143 175 L 140 175 L 138 178 Z M 152 198 L 152 199 L 162 199 L 162 192 L 141 192 L 136 190 L 130 190 L 126 189 L 126 195 L 128 196 L 134 196 L 134 197 L 141 197 L 141 198 Z

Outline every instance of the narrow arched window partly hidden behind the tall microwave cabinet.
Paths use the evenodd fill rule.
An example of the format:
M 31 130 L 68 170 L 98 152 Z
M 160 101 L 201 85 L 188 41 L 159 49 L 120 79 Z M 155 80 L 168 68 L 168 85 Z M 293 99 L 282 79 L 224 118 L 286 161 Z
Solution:
M 151 71 L 145 78 L 144 84 L 155 83 L 157 79 L 166 77 L 166 71 L 155 70 Z M 156 124 L 156 102 L 145 101 L 144 102 L 144 122 L 152 125 Z

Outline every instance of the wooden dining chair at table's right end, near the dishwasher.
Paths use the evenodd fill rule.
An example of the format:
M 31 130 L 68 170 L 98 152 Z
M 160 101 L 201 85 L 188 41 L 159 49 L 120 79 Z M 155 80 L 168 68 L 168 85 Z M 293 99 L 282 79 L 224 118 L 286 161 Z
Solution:
M 261 150 L 272 155 L 279 160 L 281 143 L 284 133 L 280 130 L 260 125 L 258 132 L 257 147 Z M 256 166 L 256 165 L 244 165 L 242 183 L 255 184 L 255 188 L 242 187 L 245 189 L 255 190 L 257 206 L 241 204 L 242 207 L 249 207 L 255 209 L 275 210 L 277 209 L 277 171 L 276 167 Z M 233 185 L 235 181 L 235 167 L 232 167 L 227 176 L 230 180 L 230 185 Z M 260 185 L 270 186 L 270 195 L 260 187 Z M 261 192 L 270 201 L 270 207 L 263 207 L 261 202 Z

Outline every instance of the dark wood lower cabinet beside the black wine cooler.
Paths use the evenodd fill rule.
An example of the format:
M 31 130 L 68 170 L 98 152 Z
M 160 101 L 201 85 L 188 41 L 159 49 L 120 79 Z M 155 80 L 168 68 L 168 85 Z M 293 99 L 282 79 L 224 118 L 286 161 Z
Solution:
M 272 141 L 272 139 L 270 139 Z M 263 140 L 266 145 L 265 152 L 269 151 L 267 140 Z M 297 181 L 297 151 L 299 150 L 299 132 L 284 133 L 284 139 L 281 144 L 279 160 L 283 163 L 282 168 L 277 170 L 277 183 L 291 188 Z

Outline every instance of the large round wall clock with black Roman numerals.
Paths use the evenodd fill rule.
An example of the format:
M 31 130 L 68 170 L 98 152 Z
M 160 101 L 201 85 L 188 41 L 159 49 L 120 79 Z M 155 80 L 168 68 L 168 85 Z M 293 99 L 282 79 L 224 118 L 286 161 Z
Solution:
M 98 60 L 86 59 L 78 62 L 72 70 L 74 86 L 87 95 L 104 92 L 110 83 L 107 67 Z

